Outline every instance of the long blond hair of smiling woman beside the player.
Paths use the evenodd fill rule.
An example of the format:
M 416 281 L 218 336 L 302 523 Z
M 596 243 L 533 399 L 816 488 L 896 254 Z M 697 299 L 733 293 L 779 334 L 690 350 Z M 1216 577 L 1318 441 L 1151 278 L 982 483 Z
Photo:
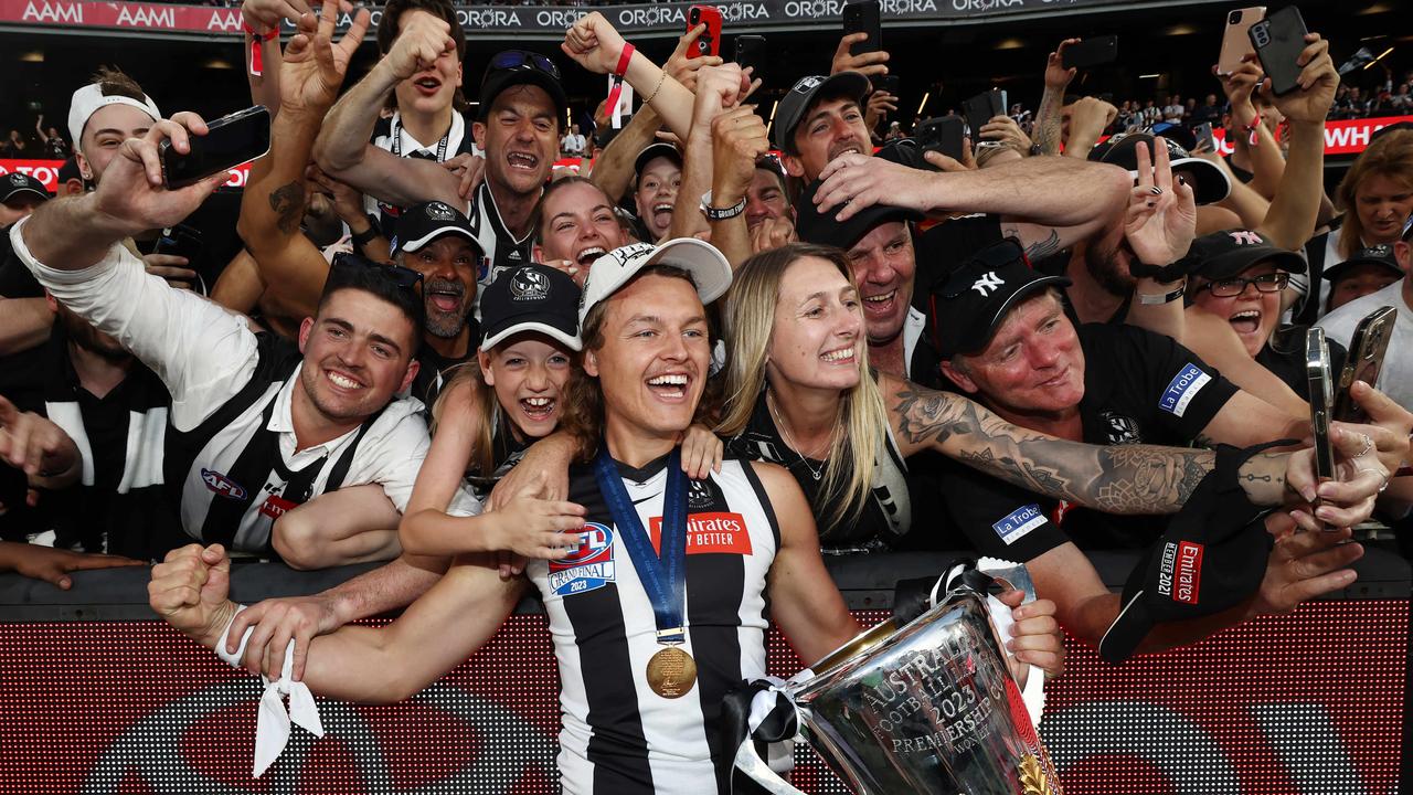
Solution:
M 739 436 L 750 422 L 756 400 L 766 389 L 766 362 L 776 324 L 780 284 L 791 265 L 804 257 L 829 262 L 853 284 L 849 260 L 831 246 L 790 243 L 747 259 L 732 277 L 726 294 L 723 331 L 726 338 L 726 405 L 716 433 Z M 839 396 L 835 413 L 838 431 L 829 440 L 815 515 L 835 502 L 829 516 L 818 516 L 829 528 L 856 519 L 868 505 L 879 446 L 887 439 L 887 412 L 877 382 L 869 372 L 868 345 L 859 345 L 859 382 Z M 796 451 L 798 453 L 798 451 Z

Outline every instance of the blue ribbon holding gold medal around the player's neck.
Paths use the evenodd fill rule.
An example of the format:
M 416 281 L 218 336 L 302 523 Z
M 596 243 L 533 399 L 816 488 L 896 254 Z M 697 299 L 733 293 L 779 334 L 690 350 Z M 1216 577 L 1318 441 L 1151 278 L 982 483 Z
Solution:
M 657 642 L 681 644 L 682 608 L 687 604 L 687 472 L 682 471 L 681 450 L 673 450 L 667 457 L 667 494 L 663 497 L 661 553 L 653 550 L 653 539 L 637 518 L 633 499 L 623 488 L 623 477 L 617 464 L 609 455 L 606 441 L 599 443 L 599 454 L 593 458 L 593 477 L 599 491 L 613 515 L 619 538 L 627 549 L 637 579 L 643 581 L 649 601 L 653 603 L 653 618 L 657 621 Z

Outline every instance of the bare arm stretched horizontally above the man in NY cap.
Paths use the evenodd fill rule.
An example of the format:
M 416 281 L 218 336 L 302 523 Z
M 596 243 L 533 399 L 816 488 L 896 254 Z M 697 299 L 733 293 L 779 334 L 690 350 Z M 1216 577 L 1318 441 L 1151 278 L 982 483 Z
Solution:
M 927 154 L 941 166 L 941 156 Z M 865 207 L 889 204 L 927 214 L 1002 215 L 1031 259 L 1088 238 L 1128 205 L 1133 180 L 1126 171 L 1071 157 L 1026 157 L 981 171 L 921 171 L 862 154 L 834 158 L 815 192 L 821 212 L 846 221 Z

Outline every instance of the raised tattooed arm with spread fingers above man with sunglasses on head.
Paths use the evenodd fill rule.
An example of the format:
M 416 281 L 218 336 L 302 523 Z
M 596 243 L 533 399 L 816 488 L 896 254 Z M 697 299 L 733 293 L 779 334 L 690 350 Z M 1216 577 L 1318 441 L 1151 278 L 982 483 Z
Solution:
M 294 314 L 314 314 L 329 266 L 304 236 L 304 171 L 324 115 L 343 85 L 349 59 L 367 31 L 369 16 L 359 13 L 343 40 L 332 41 L 338 7 L 324 4 L 311 37 L 290 41 L 280 75 L 281 112 L 270 130 L 270 153 L 250 167 L 236 229 L 254 257 L 267 293 Z

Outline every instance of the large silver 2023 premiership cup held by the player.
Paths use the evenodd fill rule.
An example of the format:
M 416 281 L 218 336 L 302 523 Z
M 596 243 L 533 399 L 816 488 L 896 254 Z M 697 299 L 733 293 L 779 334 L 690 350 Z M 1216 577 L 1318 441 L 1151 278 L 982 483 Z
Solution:
M 786 693 L 856 792 L 1058 794 L 1005 661 L 985 594 L 962 588 L 903 629 L 861 634 Z

